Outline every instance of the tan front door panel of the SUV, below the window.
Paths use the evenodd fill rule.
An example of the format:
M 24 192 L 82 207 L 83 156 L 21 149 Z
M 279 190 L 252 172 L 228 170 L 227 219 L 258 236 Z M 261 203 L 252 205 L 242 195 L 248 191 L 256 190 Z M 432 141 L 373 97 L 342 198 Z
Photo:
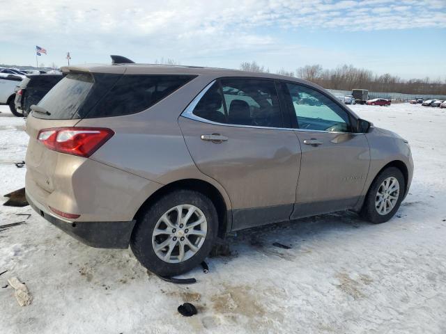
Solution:
M 353 207 L 369 172 L 365 135 L 299 130 L 296 134 L 302 143 L 302 162 L 293 217 Z

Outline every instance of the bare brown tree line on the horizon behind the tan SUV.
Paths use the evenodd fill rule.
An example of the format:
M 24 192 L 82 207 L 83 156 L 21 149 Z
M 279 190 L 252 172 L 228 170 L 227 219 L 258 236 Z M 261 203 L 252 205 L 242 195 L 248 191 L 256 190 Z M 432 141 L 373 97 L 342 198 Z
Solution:
M 255 61 L 241 63 L 240 70 L 270 72 L 268 68 Z M 446 80 L 442 82 L 440 79 L 432 80 L 429 77 L 401 79 L 389 73 L 374 74 L 370 70 L 357 68 L 353 65 L 341 65 L 332 70 L 324 69 L 321 65 L 306 65 L 299 67 L 295 72 L 282 69 L 277 71 L 277 74 L 312 81 L 326 89 L 362 88 L 371 92 L 446 95 Z

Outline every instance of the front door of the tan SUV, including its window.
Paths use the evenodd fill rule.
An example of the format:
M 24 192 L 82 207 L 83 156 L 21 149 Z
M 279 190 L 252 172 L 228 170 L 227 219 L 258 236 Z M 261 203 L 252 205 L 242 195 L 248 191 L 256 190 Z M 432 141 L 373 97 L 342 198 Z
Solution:
M 344 104 L 322 90 L 287 83 L 288 105 L 302 144 L 296 204 L 291 218 L 353 207 L 369 173 L 370 150 L 355 134 Z

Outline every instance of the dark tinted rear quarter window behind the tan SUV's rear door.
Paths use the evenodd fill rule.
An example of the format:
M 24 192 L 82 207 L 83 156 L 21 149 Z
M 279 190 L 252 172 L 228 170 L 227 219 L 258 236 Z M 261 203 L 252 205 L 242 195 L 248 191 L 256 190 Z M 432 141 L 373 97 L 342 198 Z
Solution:
M 123 75 L 86 118 L 139 113 L 192 78 L 190 75 Z

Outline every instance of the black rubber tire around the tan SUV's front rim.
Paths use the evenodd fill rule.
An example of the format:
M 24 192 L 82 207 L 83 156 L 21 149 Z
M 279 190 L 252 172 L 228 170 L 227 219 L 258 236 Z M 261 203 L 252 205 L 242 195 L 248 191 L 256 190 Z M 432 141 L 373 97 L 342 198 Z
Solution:
M 399 196 L 397 200 L 397 204 L 394 208 L 385 215 L 378 214 L 378 211 L 375 207 L 376 193 L 380 187 L 380 184 L 383 183 L 387 177 L 395 177 L 399 183 Z M 371 183 L 369 191 L 367 192 L 367 196 L 364 200 L 364 204 L 362 205 L 362 209 L 360 212 L 360 216 L 366 220 L 370 221 L 374 224 L 385 223 L 390 218 L 394 216 L 394 214 L 398 211 L 401 202 L 403 201 L 404 193 L 406 191 L 406 182 L 404 182 L 403 173 L 401 170 L 396 167 L 385 168 L 378 176 L 375 177 L 374 182 Z

